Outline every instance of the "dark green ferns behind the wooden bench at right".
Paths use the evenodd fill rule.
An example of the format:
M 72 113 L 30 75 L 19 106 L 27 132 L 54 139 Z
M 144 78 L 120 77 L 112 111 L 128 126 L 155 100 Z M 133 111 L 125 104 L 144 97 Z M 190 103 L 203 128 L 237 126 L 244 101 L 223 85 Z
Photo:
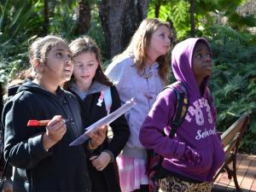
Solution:
M 218 109 L 218 128 L 226 129 L 245 111 L 250 127 L 241 150 L 256 153 L 256 37 L 230 27 L 213 26 L 204 34 L 212 45 L 212 90 Z

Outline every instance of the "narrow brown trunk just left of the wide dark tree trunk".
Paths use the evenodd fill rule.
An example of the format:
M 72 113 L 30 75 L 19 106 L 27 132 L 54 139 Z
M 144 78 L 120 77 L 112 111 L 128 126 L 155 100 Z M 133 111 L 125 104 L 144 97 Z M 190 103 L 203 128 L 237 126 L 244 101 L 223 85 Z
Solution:
M 78 13 L 78 34 L 84 34 L 88 32 L 90 27 L 90 3 L 87 0 L 79 1 L 79 13 Z

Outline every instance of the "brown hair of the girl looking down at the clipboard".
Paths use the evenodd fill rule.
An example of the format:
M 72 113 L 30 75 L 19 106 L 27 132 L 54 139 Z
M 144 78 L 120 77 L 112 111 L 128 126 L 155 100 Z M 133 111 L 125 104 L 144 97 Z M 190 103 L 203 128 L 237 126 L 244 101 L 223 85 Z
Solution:
M 83 38 L 77 38 L 69 44 L 69 49 L 71 51 L 71 56 L 72 58 L 84 53 L 84 52 L 90 52 L 96 55 L 96 61 L 99 63 L 97 69 L 96 69 L 96 74 L 94 79 L 102 84 L 106 84 L 108 86 L 112 86 L 113 83 L 108 79 L 108 77 L 103 73 L 102 70 L 102 56 L 101 56 L 101 51 L 99 47 L 97 46 L 96 42 L 88 37 L 84 36 Z M 74 77 L 72 76 L 71 82 L 74 82 Z

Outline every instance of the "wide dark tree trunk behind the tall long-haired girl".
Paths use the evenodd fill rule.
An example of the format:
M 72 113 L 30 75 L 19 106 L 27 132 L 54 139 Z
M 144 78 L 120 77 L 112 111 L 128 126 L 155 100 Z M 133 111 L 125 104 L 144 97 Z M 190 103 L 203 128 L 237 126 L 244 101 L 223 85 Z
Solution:
M 119 54 L 146 18 L 149 0 L 102 0 L 99 15 L 108 46 L 108 55 Z

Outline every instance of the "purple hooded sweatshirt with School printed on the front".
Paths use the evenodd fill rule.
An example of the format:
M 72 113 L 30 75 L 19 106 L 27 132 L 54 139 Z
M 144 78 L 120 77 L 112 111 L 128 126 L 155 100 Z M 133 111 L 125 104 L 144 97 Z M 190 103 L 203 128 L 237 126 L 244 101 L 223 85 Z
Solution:
M 143 123 L 140 141 L 145 148 L 152 148 L 165 157 L 162 166 L 171 172 L 198 181 L 212 182 L 212 177 L 224 163 L 224 149 L 217 135 L 216 110 L 207 101 L 205 78 L 203 96 L 196 83 L 192 69 L 192 55 L 195 44 L 204 38 L 188 38 L 177 44 L 172 50 L 172 71 L 178 81 L 182 81 L 189 92 L 189 110 L 183 124 L 177 128 L 175 137 L 166 137 L 172 129 L 168 122 L 176 107 L 176 95 L 172 89 L 160 92 L 153 108 Z M 201 163 L 191 165 L 184 157 L 185 149 L 192 148 L 201 155 Z

